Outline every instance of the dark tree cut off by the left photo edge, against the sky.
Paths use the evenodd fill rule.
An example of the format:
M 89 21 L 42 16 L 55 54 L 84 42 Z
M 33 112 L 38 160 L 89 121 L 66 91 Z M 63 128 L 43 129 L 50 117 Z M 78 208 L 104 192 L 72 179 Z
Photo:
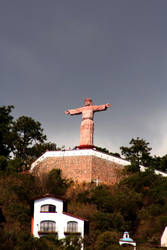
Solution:
M 13 117 L 11 112 L 14 106 L 2 106 L 0 107 L 0 155 L 8 157 L 12 151 L 13 134 L 12 124 Z

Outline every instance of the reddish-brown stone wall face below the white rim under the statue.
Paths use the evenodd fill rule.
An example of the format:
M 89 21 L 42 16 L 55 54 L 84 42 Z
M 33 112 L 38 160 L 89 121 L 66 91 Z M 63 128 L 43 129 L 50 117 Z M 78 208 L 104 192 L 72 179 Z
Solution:
M 63 177 L 78 183 L 98 179 L 106 184 L 113 184 L 119 181 L 123 166 L 88 155 L 48 157 L 34 168 L 33 173 L 40 176 L 52 169 L 61 169 Z

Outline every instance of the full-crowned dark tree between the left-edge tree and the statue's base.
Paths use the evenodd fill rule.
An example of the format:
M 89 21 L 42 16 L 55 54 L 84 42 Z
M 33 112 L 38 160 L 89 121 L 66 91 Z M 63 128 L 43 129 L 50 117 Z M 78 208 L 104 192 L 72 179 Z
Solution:
M 27 116 L 21 116 L 14 122 L 13 132 L 15 134 L 15 156 L 24 160 L 27 160 L 30 146 L 46 140 L 40 122 Z

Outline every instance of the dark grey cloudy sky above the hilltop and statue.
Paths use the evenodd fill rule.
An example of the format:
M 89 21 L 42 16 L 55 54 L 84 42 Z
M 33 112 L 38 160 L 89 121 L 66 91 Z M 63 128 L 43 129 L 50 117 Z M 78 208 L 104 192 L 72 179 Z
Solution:
M 79 144 L 85 97 L 94 144 L 119 152 L 131 138 L 167 154 L 167 0 L 1 0 L 0 106 L 41 122 L 48 140 Z

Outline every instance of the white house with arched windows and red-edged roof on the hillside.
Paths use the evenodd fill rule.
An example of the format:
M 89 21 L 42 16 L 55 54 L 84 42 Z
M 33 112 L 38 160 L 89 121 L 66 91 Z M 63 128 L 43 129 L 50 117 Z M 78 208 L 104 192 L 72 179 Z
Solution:
M 67 213 L 65 200 L 47 194 L 34 199 L 33 210 L 31 233 L 34 237 L 47 234 L 56 234 L 58 239 L 70 234 L 84 237 L 87 220 Z

